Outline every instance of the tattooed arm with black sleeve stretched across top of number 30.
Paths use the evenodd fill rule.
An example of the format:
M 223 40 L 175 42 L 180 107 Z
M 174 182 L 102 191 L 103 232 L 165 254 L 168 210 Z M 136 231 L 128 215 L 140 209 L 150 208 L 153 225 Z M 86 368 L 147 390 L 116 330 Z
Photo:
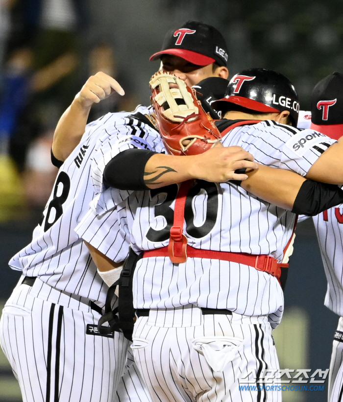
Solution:
M 222 183 L 245 180 L 246 174 L 235 170 L 256 169 L 254 158 L 239 146 L 213 147 L 203 154 L 174 156 L 144 149 L 126 149 L 105 167 L 104 182 L 116 189 L 146 190 L 202 179 Z

